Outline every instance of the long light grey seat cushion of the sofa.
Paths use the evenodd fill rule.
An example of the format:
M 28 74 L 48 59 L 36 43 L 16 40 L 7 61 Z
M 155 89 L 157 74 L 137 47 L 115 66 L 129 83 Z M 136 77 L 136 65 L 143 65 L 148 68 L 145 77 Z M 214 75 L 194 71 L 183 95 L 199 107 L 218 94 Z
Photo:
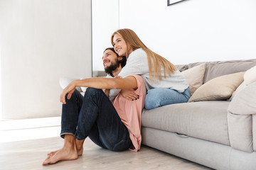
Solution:
M 230 101 L 178 103 L 142 111 L 142 127 L 176 132 L 230 146 L 228 105 Z

